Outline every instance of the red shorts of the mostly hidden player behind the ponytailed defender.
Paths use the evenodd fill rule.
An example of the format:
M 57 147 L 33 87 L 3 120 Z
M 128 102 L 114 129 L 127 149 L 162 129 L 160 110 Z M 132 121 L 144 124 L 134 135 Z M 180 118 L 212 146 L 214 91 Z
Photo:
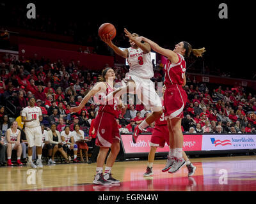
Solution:
M 169 136 L 169 129 L 166 126 L 155 126 L 152 132 L 150 146 L 152 147 L 164 147 L 165 142 L 169 146 L 170 136 Z

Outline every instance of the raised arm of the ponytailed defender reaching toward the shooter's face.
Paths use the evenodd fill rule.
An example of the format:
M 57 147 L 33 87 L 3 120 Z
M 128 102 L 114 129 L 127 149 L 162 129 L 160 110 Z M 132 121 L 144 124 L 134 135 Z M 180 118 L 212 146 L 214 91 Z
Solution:
M 154 41 L 149 40 L 148 38 L 145 38 L 145 37 L 143 37 L 143 36 L 140 36 L 140 37 L 138 37 L 138 38 L 135 38 L 135 40 L 136 40 L 136 41 L 145 41 L 145 42 L 147 42 L 147 43 L 151 46 L 152 50 L 158 52 L 158 53 L 161 54 L 161 55 L 164 55 L 164 56 L 168 57 L 168 59 L 169 59 L 170 61 L 172 61 L 174 64 L 176 64 L 177 62 L 179 62 L 179 57 L 178 57 L 178 55 L 177 55 L 175 52 L 173 52 L 172 50 L 168 50 L 168 49 L 165 49 L 165 48 L 163 48 L 163 47 L 160 47 L 160 46 L 157 45 L 157 43 L 155 43 Z

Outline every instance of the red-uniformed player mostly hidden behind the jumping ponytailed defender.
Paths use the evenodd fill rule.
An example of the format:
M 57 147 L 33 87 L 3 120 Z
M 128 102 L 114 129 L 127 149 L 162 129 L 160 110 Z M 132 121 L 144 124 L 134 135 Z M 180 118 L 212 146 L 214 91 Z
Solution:
M 166 87 L 164 85 L 163 87 L 163 94 Z M 163 98 L 162 98 L 163 103 Z M 163 107 L 164 109 L 164 107 Z M 159 117 L 159 119 L 156 120 L 156 126 L 153 129 L 151 140 L 150 140 L 150 152 L 148 153 L 148 164 L 147 164 L 147 170 L 144 173 L 144 177 L 149 177 L 150 175 L 153 175 L 153 163 L 155 159 L 156 149 L 157 147 L 163 148 L 165 142 L 168 144 L 170 149 L 173 148 L 173 141 L 170 141 L 170 133 L 168 129 L 167 121 L 164 119 L 164 113 Z M 195 173 L 196 167 L 190 163 L 186 153 L 182 151 L 182 157 L 186 161 L 186 166 L 188 168 L 188 176 L 190 177 Z M 168 160 L 173 160 L 172 155 L 170 155 L 170 152 L 168 154 Z M 163 168 L 163 172 L 168 171 L 170 169 L 170 165 L 166 165 L 166 167 Z

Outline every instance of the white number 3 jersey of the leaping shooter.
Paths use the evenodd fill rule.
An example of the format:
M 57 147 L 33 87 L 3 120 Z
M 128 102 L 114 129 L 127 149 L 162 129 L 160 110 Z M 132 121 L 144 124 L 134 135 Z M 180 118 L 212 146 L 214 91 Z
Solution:
M 129 47 L 127 61 L 130 66 L 128 74 L 148 79 L 154 77 L 150 52 L 145 54 L 141 48 L 134 49 Z

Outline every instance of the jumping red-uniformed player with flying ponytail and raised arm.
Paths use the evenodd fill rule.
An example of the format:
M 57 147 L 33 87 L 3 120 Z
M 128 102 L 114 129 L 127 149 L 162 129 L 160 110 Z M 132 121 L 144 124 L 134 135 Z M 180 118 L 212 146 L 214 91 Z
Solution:
M 134 40 L 132 39 L 132 41 Z M 186 161 L 182 158 L 183 135 L 181 130 L 183 109 L 188 98 L 186 92 L 182 89 L 182 84 L 186 84 L 186 61 L 184 57 L 189 57 L 191 52 L 196 57 L 202 57 L 205 48 L 192 49 L 188 42 L 181 41 L 175 45 L 174 50 L 168 50 L 143 36 L 136 38 L 135 41 L 147 42 L 154 51 L 168 58 L 164 68 L 164 84 L 166 85 L 166 91 L 164 92 L 164 115 L 168 121 L 170 141 L 173 141 L 175 145 L 174 149 L 170 149 L 170 155 L 173 157 L 173 154 L 175 154 L 175 157 L 173 161 L 169 159 L 166 166 L 170 166 L 169 173 L 175 173 L 186 164 Z

